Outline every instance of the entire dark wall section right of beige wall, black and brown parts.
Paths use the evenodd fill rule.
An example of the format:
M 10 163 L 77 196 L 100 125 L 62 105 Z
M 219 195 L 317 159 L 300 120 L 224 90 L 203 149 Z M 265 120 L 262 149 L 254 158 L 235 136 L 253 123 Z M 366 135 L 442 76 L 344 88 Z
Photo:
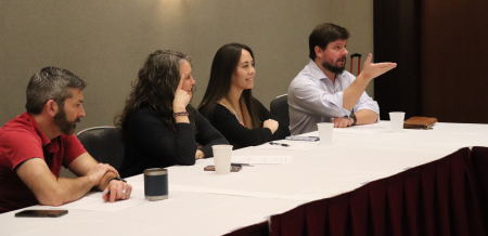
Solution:
M 488 1 L 374 0 L 375 79 L 382 119 L 404 110 L 442 122 L 488 123 Z

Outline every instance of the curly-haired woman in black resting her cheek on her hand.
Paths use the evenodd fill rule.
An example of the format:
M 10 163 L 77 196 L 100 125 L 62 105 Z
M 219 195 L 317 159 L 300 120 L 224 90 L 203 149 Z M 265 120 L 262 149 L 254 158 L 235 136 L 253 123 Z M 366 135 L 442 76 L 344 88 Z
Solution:
M 147 168 L 190 166 L 211 157 L 211 145 L 227 140 L 190 105 L 193 94 L 190 56 L 158 50 L 138 74 L 124 112 L 116 118 L 125 141 L 121 176 Z M 203 145 L 197 148 L 197 143 Z

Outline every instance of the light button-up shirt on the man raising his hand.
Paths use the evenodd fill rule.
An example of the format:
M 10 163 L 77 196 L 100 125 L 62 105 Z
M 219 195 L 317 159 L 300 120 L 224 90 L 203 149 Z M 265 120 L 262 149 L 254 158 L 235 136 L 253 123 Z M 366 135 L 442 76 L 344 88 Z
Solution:
M 344 70 L 335 83 L 310 60 L 288 88 L 290 131 L 292 135 L 317 131 L 317 123 L 331 122 L 335 117 L 349 117 L 343 107 L 343 93 L 356 79 Z M 370 109 L 380 115 L 380 106 L 365 92 L 354 107 L 357 113 Z M 380 120 L 380 117 L 378 117 Z

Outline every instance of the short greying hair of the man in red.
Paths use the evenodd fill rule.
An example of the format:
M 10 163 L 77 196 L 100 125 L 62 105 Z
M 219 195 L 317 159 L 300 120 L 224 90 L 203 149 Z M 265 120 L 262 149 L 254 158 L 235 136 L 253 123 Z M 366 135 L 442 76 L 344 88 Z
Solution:
M 67 69 L 54 66 L 44 67 L 30 77 L 25 108 L 28 113 L 39 115 L 50 100 L 64 106 L 64 101 L 73 96 L 69 89 L 84 90 L 86 87 L 87 83 L 84 80 Z

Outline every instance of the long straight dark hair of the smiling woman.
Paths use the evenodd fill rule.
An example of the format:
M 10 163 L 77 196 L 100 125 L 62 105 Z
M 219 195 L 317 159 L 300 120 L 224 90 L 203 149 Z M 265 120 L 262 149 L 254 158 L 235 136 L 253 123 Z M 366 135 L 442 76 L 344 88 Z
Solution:
M 209 120 L 211 119 L 215 105 L 217 105 L 217 103 L 230 91 L 232 75 L 234 75 L 237 69 L 243 49 L 249 52 L 254 60 L 254 53 L 249 47 L 235 42 L 222 45 L 214 56 L 207 90 L 198 106 L 198 112 Z M 262 120 L 258 110 L 258 102 L 253 97 L 251 89 L 244 90 L 241 99 L 243 99 L 246 104 L 247 112 L 253 121 L 253 127 L 261 127 Z

